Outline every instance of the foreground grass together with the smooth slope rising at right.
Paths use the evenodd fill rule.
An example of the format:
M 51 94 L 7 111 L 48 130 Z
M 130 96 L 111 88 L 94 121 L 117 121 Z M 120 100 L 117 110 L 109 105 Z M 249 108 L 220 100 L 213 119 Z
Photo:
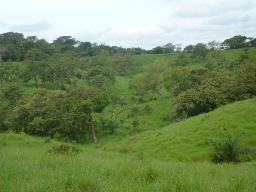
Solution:
M 55 140 L 45 143 L 38 136 L 1 133 L 0 191 L 254 192 L 255 161 L 201 160 L 210 152 L 204 138 L 220 137 L 222 126 L 235 133 L 245 131 L 249 137 L 244 142 L 256 145 L 255 102 L 229 104 L 122 142 L 101 138 L 82 145 L 78 155 L 48 154 L 59 144 Z

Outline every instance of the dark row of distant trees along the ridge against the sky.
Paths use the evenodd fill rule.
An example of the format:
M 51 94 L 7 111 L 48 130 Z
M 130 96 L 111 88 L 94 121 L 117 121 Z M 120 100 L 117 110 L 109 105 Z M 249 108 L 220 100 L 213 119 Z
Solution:
M 140 47 L 122 48 L 118 46 L 108 46 L 106 44 L 98 45 L 96 42 L 78 41 L 72 36 L 60 36 L 52 43 L 45 39 L 38 39 L 37 36 L 24 37 L 24 34 L 17 32 L 7 32 L 0 34 L 0 63 L 1 60 L 23 61 L 26 59 L 28 50 L 38 49 L 46 56 L 52 56 L 54 53 L 65 53 L 73 51 L 76 57 L 90 56 L 113 56 L 114 54 L 126 54 L 130 52 L 137 54 L 162 54 L 171 52 L 191 53 L 196 49 L 196 45 L 188 45 L 182 50 L 182 44 L 167 43 L 163 46 L 157 46 L 152 50 L 145 50 Z M 238 49 L 246 47 L 255 47 L 256 38 L 246 36 L 234 36 L 232 38 L 219 42 L 216 40 L 203 44 L 208 50 L 215 49 Z

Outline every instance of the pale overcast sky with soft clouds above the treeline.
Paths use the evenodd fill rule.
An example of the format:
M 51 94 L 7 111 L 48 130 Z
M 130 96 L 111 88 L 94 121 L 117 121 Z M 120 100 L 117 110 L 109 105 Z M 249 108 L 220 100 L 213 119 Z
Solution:
M 256 38 L 256 0 L 6 0 L 0 34 L 59 36 L 151 50 L 167 43 Z

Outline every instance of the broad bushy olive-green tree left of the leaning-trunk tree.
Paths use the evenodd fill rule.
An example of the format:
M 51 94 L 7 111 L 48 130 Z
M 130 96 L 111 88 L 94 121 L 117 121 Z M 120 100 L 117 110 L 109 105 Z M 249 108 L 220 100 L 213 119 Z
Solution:
M 65 93 L 59 90 L 48 91 L 42 88 L 36 89 L 33 94 L 25 92 L 22 98 L 17 100 L 14 109 L 8 113 L 4 124 L 15 132 L 24 131 L 32 134 L 61 132 L 60 111 L 63 108 L 64 95 Z

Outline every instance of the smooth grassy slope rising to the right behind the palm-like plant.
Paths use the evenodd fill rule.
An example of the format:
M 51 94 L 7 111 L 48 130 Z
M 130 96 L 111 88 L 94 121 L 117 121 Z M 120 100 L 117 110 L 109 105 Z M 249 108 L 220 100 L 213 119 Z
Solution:
M 217 108 L 157 130 L 144 131 L 119 143 L 106 144 L 105 148 L 131 152 L 144 152 L 148 158 L 158 160 L 202 161 L 207 160 L 211 146 L 204 139 L 221 138 L 223 128 L 234 133 L 246 132 L 244 142 L 256 146 L 256 100 L 244 100 Z

